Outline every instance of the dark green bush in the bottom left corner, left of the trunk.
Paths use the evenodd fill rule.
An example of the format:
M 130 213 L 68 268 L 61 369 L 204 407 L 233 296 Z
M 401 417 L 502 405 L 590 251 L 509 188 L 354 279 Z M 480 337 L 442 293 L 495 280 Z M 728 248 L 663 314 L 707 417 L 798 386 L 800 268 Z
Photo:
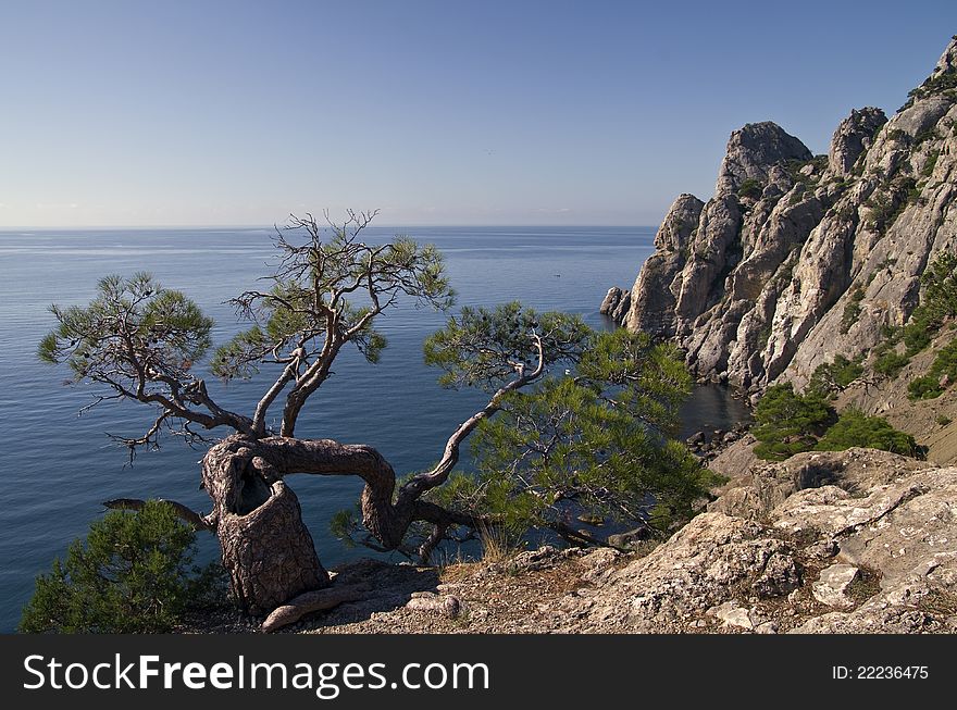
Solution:
M 66 560 L 37 577 L 21 633 L 163 633 L 215 574 L 192 566 L 196 535 L 171 506 L 148 501 L 136 513 L 111 511 L 76 539 Z M 216 565 L 220 566 L 220 565 Z M 220 568 L 222 569 L 222 568 Z

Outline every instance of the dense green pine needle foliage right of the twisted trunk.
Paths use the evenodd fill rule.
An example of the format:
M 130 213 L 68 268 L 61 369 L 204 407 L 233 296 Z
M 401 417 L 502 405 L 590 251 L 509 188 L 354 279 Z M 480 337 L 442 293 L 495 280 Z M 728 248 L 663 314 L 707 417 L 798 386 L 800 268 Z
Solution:
M 564 326 L 563 342 L 583 327 Z M 431 360 L 448 364 L 440 356 L 455 350 L 439 344 L 433 339 Z M 506 396 L 473 435 L 477 471 L 453 475 L 432 500 L 494 520 L 513 537 L 558 530 L 571 511 L 660 532 L 694 514 L 719 477 L 673 438 L 692 386 L 679 353 L 624 329 L 591 333 L 582 345 L 573 370 Z M 453 373 L 469 371 L 455 364 Z

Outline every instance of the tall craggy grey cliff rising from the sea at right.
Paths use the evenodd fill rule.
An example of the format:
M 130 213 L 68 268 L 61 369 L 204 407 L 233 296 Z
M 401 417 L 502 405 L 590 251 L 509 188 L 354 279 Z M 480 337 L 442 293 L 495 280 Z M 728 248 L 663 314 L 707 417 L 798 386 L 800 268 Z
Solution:
M 701 378 L 800 387 L 903 324 L 957 248 L 957 39 L 890 121 L 855 110 L 813 157 L 773 123 L 732 134 L 707 202 L 680 196 L 630 291 L 602 312 L 674 338 Z

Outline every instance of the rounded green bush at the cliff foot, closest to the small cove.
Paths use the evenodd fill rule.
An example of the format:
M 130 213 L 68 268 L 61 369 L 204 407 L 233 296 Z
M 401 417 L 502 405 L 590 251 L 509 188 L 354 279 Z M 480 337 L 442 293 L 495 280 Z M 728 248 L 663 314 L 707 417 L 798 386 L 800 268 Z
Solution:
M 755 408 L 755 454 L 781 461 L 810 451 L 833 419 L 833 410 L 817 393 L 797 395 L 791 384 L 769 387 Z

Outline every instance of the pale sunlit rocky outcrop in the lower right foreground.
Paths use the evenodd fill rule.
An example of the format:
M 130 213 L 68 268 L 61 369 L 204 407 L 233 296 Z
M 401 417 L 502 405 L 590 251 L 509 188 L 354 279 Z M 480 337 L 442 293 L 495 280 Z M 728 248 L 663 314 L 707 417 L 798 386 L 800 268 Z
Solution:
M 748 488 L 738 501 L 765 506 L 714 506 L 556 601 L 558 630 L 957 631 L 957 469 L 865 449 L 785 463 L 755 464 L 718 499 Z

